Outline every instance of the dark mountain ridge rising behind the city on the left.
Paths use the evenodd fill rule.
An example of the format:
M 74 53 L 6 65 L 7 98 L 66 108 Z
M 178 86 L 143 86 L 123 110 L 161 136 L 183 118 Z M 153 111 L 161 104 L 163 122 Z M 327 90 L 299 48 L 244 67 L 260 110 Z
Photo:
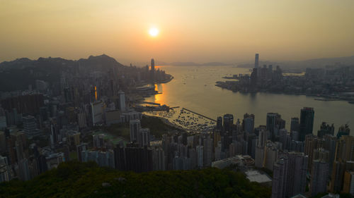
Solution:
M 64 73 L 92 73 L 107 71 L 112 68 L 128 68 L 114 58 L 105 54 L 89 56 L 76 61 L 64 58 L 18 58 L 14 61 L 0 63 L 0 92 L 26 89 L 28 85 L 35 85 L 35 80 L 44 80 L 54 85 L 60 82 L 60 75 Z

